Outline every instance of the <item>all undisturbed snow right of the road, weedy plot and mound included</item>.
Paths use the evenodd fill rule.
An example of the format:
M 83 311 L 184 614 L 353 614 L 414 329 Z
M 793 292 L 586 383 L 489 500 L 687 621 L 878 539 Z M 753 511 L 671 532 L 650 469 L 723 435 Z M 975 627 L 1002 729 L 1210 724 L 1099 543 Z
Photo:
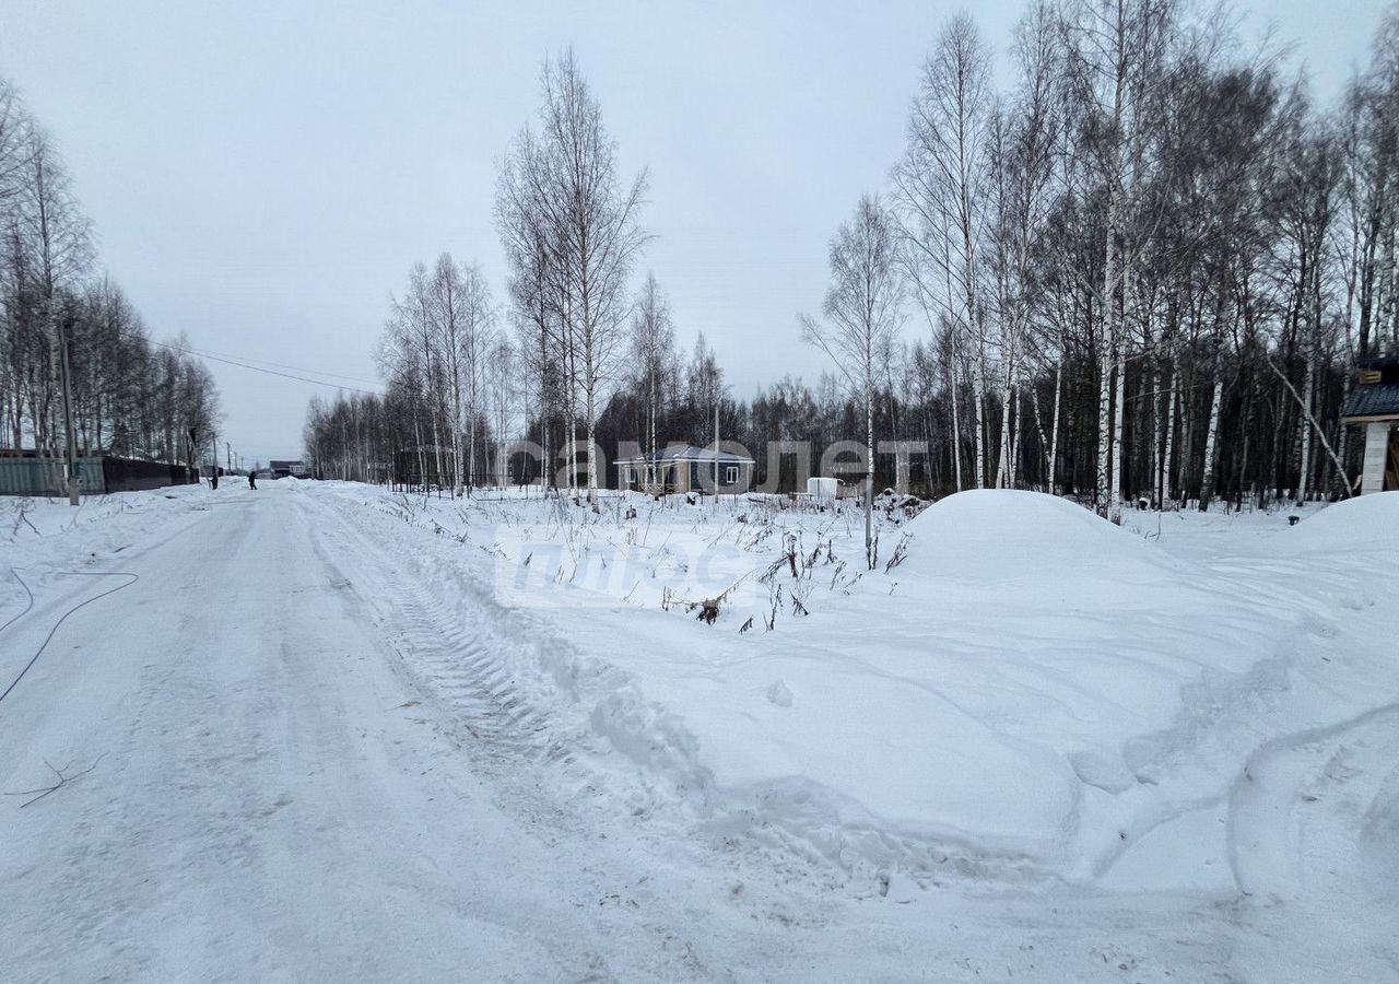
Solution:
M 1230 540 L 1254 554 L 1212 565 L 1063 500 L 972 491 L 883 525 L 883 560 L 900 540 L 905 557 L 862 572 L 862 523 L 844 514 L 754 508 L 740 519 L 736 502 L 638 500 L 637 518 L 564 519 L 557 504 L 506 500 L 429 501 L 390 521 L 392 500 L 354 494 L 376 535 L 432 556 L 446 609 L 480 609 L 499 565 L 518 563 L 501 544 L 522 525 L 614 560 L 644 543 L 691 558 L 729 543 L 754 571 L 775 570 L 774 631 L 662 610 L 684 565 L 599 582 L 616 595 L 586 606 L 555 575 L 530 581 L 529 619 L 501 616 L 513 627 L 491 647 L 492 673 L 603 773 L 589 788 L 628 789 L 648 813 L 683 802 L 725 837 L 852 872 L 1160 880 L 1198 830 L 1221 838 L 1192 854 L 1214 865 L 1230 851 L 1210 810 L 1260 743 L 1399 689 L 1399 668 L 1379 658 L 1392 648 L 1382 606 L 1354 631 L 1337 619 L 1356 603 L 1337 588 L 1354 571 L 1267 546 L 1314 537 L 1316 551 L 1343 556 L 1344 530 L 1374 526 L 1370 512 L 1389 502 L 1336 507 L 1308 519 L 1309 533 L 1280 521 L 1276 535 Z M 774 564 L 792 537 L 806 558 L 797 577 Z M 1399 571 L 1377 577 L 1399 588 Z

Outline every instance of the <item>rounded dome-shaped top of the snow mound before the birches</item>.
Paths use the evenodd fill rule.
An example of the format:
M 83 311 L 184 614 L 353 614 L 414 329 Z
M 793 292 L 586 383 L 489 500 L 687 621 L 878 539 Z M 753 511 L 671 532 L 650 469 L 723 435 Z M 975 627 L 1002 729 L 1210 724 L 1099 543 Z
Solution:
M 1142 537 L 1042 493 L 957 493 L 930 505 L 905 529 L 914 536 L 914 549 L 901 574 L 909 578 L 1151 582 L 1178 571 L 1178 561 Z

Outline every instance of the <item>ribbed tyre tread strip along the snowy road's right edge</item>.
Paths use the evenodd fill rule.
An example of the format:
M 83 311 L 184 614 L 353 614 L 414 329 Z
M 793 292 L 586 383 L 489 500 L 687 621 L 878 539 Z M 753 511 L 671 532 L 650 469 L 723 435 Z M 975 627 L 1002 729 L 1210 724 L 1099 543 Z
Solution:
M 494 585 L 452 556 L 470 546 L 417 543 L 424 530 L 336 497 L 298 500 L 322 518 L 322 539 L 372 577 L 355 593 L 378 613 L 400 665 L 523 815 L 562 822 L 588 808 L 646 820 L 665 812 L 686 829 L 712 813 L 713 780 L 683 724 L 646 701 L 624 670 L 578 654 L 550 623 L 502 606 Z M 618 754 L 627 767 L 606 761 Z M 541 798 L 522 766 L 558 771 L 568 802 Z

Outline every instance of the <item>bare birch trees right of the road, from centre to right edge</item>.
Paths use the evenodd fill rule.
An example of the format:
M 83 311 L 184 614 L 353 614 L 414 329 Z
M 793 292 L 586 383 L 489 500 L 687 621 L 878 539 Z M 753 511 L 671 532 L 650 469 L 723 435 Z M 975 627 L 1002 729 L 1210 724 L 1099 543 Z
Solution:
M 597 445 L 705 444 L 718 413 L 783 490 L 799 469 L 769 442 L 820 458 L 853 440 L 880 483 L 1042 489 L 1109 516 L 1349 494 L 1351 367 L 1399 350 L 1399 7 L 1335 105 L 1227 11 L 1177 0 L 1035 0 L 1009 57 L 997 90 L 972 18 L 935 39 L 907 148 L 835 231 L 820 311 L 790 336 L 830 371 L 748 400 L 702 336 L 680 354 L 655 277 L 630 284 L 646 174 L 618 172 L 572 53 L 548 60 L 497 188 L 509 332 L 485 301 L 512 335 L 515 402 L 457 398 L 476 361 L 450 354 L 441 302 L 418 304 L 436 328 L 421 356 L 386 346 L 361 459 L 464 440 L 497 448 L 491 466 L 452 452 L 476 477 L 592 490 L 614 479 Z M 411 335 L 402 307 L 390 339 Z M 511 465 L 511 437 L 572 466 Z M 886 441 L 926 454 L 901 463 Z

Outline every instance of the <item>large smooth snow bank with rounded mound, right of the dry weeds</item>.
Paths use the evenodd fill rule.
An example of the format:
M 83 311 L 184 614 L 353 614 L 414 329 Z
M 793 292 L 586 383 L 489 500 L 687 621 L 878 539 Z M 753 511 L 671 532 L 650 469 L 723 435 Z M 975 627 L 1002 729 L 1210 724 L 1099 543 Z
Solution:
M 782 633 L 611 656 L 753 830 L 856 868 L 1100 878 L 1170 850 L 1147 836 L 1220 802 L 1260 733 L 1368 700 L 1294 690 L 1340 658 L 1312 599 L 1072 502 L 963 493 L 905 532 L 904 563 Z

